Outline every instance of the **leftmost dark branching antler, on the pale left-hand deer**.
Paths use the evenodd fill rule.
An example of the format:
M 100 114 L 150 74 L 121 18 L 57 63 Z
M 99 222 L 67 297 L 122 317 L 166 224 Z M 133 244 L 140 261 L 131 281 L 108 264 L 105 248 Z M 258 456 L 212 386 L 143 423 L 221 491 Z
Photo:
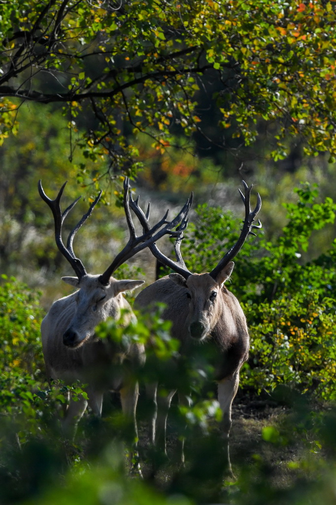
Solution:
M 48 196 L 45 194 L 43 188 L 42 188 L 42 183 L 41 180 L 38 181 L 38 192 L 41 196 L 41 198 L 45 201 L 45 203 L 50 207 L 52 215 L 53 215 L 53 220 L 55 223 L 55 241 L 56 244 L 59 248 L 59 250 L 62 252 L 63 256 L 68 260 L 72 268 L 74 269 L 78 279 L 81 279 L 86 275 L 86 270 L 84 268 L 83 263 L 81 260 L 76 258 L 75 253 L 73 251 L 73 240 L 74 236 L 76 235 L 77 231 L 79 228 L 85 223 L 87 218 L 91 215 L 95 205 L 97 204 L 101 191 L 99 192 L 98 196 L 96 199 L 92 202 L 90 205 L 90 208 L 86 214 L 82 217 L 82 219 L 76 224 L 74 229 L 70 232 L 68 241 L 67 241 L 67 246 L 64 245 L 63 240 L 62 240 L 62 225 L 64 223 L 65 218 L 69 214 L 69 212 L 73 209 L 73 207 L 77 204 L 78 200 L 80 199 L 80 196 L 62 213 L 61 206 L 60 206 L 60 200 L 64 191 L 64 188 L 66 186 L 67 182 L 63 184 L 61 187 L 59 194 L 54 200 L 51 200 L 48 198 Z

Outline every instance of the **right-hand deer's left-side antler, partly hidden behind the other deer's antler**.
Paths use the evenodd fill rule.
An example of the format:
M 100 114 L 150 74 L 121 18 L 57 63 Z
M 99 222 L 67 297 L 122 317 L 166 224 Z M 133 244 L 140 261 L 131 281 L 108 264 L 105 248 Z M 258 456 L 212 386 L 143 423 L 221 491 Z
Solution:
M 142 211 L 142 209 L 138 205 L 138 201 L 139 201 L 139 197 L 135 201 L 133 200 L 133 198 L 131 198 L 130 207 L 133 210 L 133 212 L 135 213 L 135 215 L 137 216 L 137 218 L 139 219 L 140 224 L 142 225 L 143 231 L 147 232 L 147 234 L 148 234 L 148 233 L 150 233 L 150 226 L 149 226 L 149 222 L 148 222 L 149 212 L 150 212 L 150 204 L 148 204 L 147 212 L 146 212 L 146 214 L 144 214 L 144 212 Z M 165 256 L 163 254 L 163 252 L 161 252 L 159 250 L 159 248 L 157 247 L 157 245 L 155 243 L 156 237 L 153 237 L 153 241 L 148 245 L 153 256 L 157 260 L 159 260 L 166 267 L 171 268 L 175 272 L 183 275 L 183 277 L 185 279 L 187 279 L 189 277 L 189 275 L 191 275 L 191 272 L 187 269 L 187 267 L 182 259 L 180 247 L 181 247 L 181 242 L 183 239 L 183 233 L 188 226 L 188 215 L 189 215 L 189 210 L 190 210 L 192 201 L 193 201 L 193 193 L 191 193 L 186 204 L 181 209 L 179 214 L 176 216 L 175 220 L 173 220 L 171 223 L 169 223 L 170 227 L 173 228 L 178 223 L 181 222 L 181 224 L 176 228 L 176 231 L 171 233 L 171 237 L 177 237 L 176 242 L 175 242 L 175 246 L 174 246 L 177 262 L 175 262 L 175 261 L 171 260 L 170 258 L 168 258 L 167 256 Z M 165 217 L 163 219 L 165 219 Z M 169 233 L 169 231 L 167 231 L 166 233 Z

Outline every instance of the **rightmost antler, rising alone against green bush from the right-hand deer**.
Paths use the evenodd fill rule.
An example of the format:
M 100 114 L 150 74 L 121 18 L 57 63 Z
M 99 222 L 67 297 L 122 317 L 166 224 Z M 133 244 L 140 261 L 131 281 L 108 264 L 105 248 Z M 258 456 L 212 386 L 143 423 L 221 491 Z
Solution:
M 227 252 L 227 254 L 220 260 L 218 265 L 210 272 L 210 275 L 213 279 L 216 280 L 219 272 L 226 266 L 228 263 L 238 254 L 240 249 L 242 248 L 246 238 L 248 235 L 255 235 L 253 231 L 251 231 L 252 228 L 261 228 L 261 223 L 258 219 L 258 224 L 255 225 L 253 224 L 253 221 L 255 221 L 255 217 L 258 214 L 258 212 L 261 209 L 261 198 L 260 194 L 257 193 L 257 205 L 254 209 L 254 211 L 251 211 L 250 207 L 250 194 L 251 190 L 253 187 L 253 184 L 251 184 L 250 187 L 246 184 L 245 181 L 242 181 L 244 190 L 245 190 L 245 196 L 243 195 L 242 191 L 239 189 L 240 195 L 242 197 L 242 200 L 245 205 L 245 219 L 243 221 L 243 228 L 240 234 L 239 239 L 235 243 L 233 247 Z

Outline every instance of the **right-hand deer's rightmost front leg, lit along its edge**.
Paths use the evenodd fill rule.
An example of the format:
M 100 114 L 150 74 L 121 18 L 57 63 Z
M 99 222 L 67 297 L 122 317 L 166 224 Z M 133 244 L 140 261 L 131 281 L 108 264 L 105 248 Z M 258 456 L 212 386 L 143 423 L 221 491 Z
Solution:
M 239 384 L 239 370 L 230 378 L 222 379 L 218 382 L 218 401 L 222 411 L 221 429 L 224 439 L 224 447 L 226 452 L 227 470 L 232 474 L 230 452 L 229 452 L 229 434 L 232 425 L 231 410 L 232 402 L 237 394 Z

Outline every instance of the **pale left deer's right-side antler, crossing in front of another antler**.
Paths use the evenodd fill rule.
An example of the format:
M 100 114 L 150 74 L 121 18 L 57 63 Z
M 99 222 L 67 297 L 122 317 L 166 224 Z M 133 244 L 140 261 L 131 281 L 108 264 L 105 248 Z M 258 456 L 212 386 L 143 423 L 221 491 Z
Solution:
M 150 204 L 148 204 L 147 208 L 147 213 L 146 215 L 143 213 L 141 208 L 139 207 L 139 196 L 137 199 L 134 201 L 132 195 L 129 193 L 130 189 L 130 183 L 128 177 L 125 178 L 124 180 L 124 209 L 125 209 L 125 214 L 126 214 L 126 220 L 130 232 L 130 238 L 129 241 L 127 242 L 126 246 L 123 248 L 122 251 L 119 252 L 119 254 L 116 256 L 114 261 L 110 264 L 110 266 L 105 270 L 103 274 L 100 276 L 100 282 L 102 284 L 108 284 L 110 276 L 113 274 L 113 272 L 125 261 L 127 261 L 129 258 L 134 256 L 137 252 L 139 252 L 142 249 L 145 249 L 146 247 L 149 247 L 150 250 L 153 252 L 153 248 L 157 248 L 155 241 L 161 238 L 163 235 L 170 234 L 172 237 L 177 237 L 177 241 L 181 241 L 183 231 L 185 230 L 188 222 L 188 213 L 191 205 L 192 198 L 189 198 L 187 203 L 184 205 L 184 207 L 181 209 L 179 214 L 172 220 L 172 221 L 167 221 L 167 211 L 163 218 L 156 223 L 152 228 L 150 228 L 149 223 L 148 223 L 148 217 L 149 217 L 149 210 L 150 210 Z M 131 213 L 130 213 L 130 208 L 133 210 L 133 212 L 136 214 L 138 217 L 142 228 L 143 228 L 143 235 L 140 237 L 137 237 L 135 233 L 135 228 L 134 224 L 132 221 Z M 180 226 L 176 228 L 176 226 L 179 224 Z M 163 228 L 162 228 L 163 226 Z M 160 229 L 161 228 L 161 229 Z M 168 260 L 168 259 L 167 259 Z M 168 260 L 171 261 L 171 260 Z M 182 260 L 183 262 L 183 260 Z M 174 263 L 174 262 L 173 262 Z

